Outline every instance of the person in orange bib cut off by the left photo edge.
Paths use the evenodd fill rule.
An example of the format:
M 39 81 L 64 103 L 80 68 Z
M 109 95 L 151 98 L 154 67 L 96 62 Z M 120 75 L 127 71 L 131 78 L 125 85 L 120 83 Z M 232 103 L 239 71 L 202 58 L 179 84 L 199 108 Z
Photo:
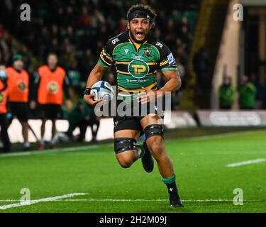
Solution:
M 7 129 L 9 128 L 9 122 L 6 117 L 7 113 L 7 99 L 8 99 L 8 89 L 7 89 L 7 74 L 6 67 L 0 65 L 0 126 L 1 126 L 1 140 L 4 144 L 4 147 L 1 148 L 1 151 L 8 152 L 10 151 L 10 141 L 9 134 Z

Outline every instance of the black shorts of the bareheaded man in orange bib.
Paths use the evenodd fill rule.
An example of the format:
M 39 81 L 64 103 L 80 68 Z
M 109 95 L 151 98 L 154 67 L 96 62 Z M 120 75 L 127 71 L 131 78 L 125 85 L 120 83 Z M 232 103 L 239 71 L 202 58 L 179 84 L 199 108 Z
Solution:
M 58 119 L 62 115 L 62 109 L 57 104 L 40 104 L 40 116 L 43 119 Z

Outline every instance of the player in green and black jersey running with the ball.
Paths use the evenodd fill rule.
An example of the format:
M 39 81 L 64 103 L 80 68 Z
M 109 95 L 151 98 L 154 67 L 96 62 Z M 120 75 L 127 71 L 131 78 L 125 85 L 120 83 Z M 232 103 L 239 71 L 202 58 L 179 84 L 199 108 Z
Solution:
M 128 10 L 128 31 L 107 41 L 101 51 L 99 61 L 89 74 L 84 101 L 89 105 L 98 104 L 90 94 L 92 85 L 104 75 L 107 68 L 113 67 L 118 85 L 118 104 L 132 94 L 130 99 L 138 100 L 144 105 L 165 96 L 167 92 L 175 92 L 181 87 L 177 65 L 172 52 L 160 40 L 154 37 L 151 30 L 155 26 L 155 16 L 150 6 L 137 4 Z M 161 71 L 167 82 L 157 89 L 156 72 Z M 138 96 L 135 96 L 138 92 Z M 154 106 L 157 113 L 157 106 Z M 131 167 L 133 162 L 142 159 L 146 172 L 153 171 L 153 157 L 157 162 L 162 182 L 167 186 L 170 195 L 170 206 L 183 206 L 176 185 L 172 161 L 165 150 L 163 140 L 162 119 L 158 114 L 146 116 L 114 116 L 114 150 L 121 167 Z M 154 112 L 153 112 L 154 113 Z M 136 145 L 136 138 L 145 134 L 145 142 Z

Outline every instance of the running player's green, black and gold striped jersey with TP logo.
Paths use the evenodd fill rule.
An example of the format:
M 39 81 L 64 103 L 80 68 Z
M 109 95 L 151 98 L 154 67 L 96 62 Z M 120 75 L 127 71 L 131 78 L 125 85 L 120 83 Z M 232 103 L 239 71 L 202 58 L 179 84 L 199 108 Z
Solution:
M 99 64 L 113 67 L 116 72 L 118 96 L 125 92 L 141 92 L 142 87 L 155 90 L 157 71 L 177 71 L 167 45 L 152 35 L 144 43 L 133 43 L 128 31 L 107 41 Z

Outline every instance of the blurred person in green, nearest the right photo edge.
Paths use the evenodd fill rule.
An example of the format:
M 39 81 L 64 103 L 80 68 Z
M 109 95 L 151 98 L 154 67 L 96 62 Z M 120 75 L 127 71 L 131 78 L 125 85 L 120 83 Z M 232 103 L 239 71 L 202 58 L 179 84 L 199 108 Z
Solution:
M 241 78 L 241 84 L 238 87 L 240 109 L 254 109 L 257 89 L 249 81 L 247 76 Z

